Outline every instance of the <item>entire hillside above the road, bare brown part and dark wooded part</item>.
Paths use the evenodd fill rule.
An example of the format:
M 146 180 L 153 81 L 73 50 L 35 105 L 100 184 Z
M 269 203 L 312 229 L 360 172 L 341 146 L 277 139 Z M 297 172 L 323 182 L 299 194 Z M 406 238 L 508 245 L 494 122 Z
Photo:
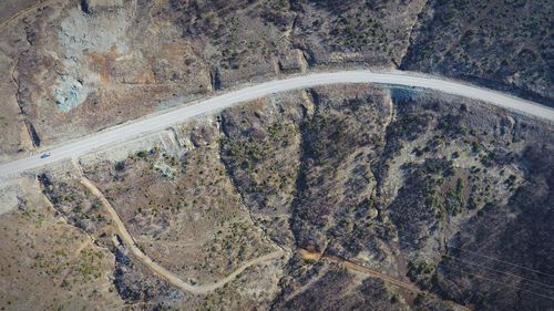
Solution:
M 423 71 L 551 105 L 551 7 L 37 2 L 0 28 L 0 69 L 10 73 L 0 79 L 0 156 L 20 157 L 217 90 L 319 69 Z

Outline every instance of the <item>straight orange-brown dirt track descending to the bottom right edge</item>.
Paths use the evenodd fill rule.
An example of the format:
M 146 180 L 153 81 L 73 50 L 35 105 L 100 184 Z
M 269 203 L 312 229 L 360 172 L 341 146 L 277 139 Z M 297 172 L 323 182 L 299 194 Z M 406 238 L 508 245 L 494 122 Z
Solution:
M 307 260 L 320 260 L 321 258 L 325 258 L 325 259 L 327 259 L 327 260 L 329 260 L 331 262 L 336 262 L 336 263 L 342 265 L 342 266 L 345 266 L 346 268 L 348 268 L 350 270 L 358 271 L 358 272 L 371 276 L 373 278 L 378 278 L 378 279 L 380 279 L 380 280 L 382 280 L 382 281 L 384 281 L 387 283 L 397 286 L 397 287 L 406 289 L 408 291 L 411 291 L 411 292 L 414 292 L 414 293 L 421 293 L 421 294 L 432 296 L 432 297 L 438 298 L 439 300 L 442 300 L 435 293 L 421 290 L 420 288 L 418 288 L 417 286 L 414 286 L 412 283 L 408 283 L 408 282 L 403 282 L 401 280 L 397 280 L 397 279 L 394 279 L 392 277 L 389 277 L 389 276 L 387 276 L 384 273 L 381 273 L 381 272 L 379 272 L 377 270 L 370 269 L 368 267 L 363 267 L 361 265 L 358 265 L 356 262 L 346 260 L 343 258 L 339 258 L 339 257 L 336 257 L 336 256 L 329 256 L 329 255 L 325 255 L 325 253 L 320 253 L 320 252 L 316 252 L 316 251 L 309 251 L 309 250 L 301 249 L 301 248 L 297 249 L 297 251 L 298 251 L 298 253 L 304 259 L 307 259 Z M 465 307 L 465 305 L 458 304 L 458 303 L 455 303 L 453 301 L 449 301 L 449 302 L 454 308 L 456 308 L 458 310 L 471 311 L 471 309 L 468 308 L 468 307 Z

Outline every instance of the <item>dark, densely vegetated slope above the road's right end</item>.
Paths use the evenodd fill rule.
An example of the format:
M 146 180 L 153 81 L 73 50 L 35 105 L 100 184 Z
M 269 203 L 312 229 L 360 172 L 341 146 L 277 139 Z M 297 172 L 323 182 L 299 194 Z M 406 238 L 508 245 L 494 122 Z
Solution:
M 550 1 L 428 1 L 401 69 L 505 90 L 553 105 Z

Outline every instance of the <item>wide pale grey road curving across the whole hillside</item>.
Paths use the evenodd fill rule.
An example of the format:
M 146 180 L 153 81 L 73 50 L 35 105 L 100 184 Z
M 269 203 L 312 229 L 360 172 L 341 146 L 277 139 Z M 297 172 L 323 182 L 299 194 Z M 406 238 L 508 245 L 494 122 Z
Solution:
M 220 111 L 240 102 L 247 102 L 285 91 L 347 83 L 372 83 L 428 89 L 483 101 L 525 115 L 554 121 L 554 110 L 544 105 L 513 97 L 497 91 L 420 73 L 402 71 L 373 72 L 363 70 L 311 73 L 247 86 L 206 101 L 201 101 L 195 104 L 158 114 L 152 114 L 136 121 L 131 121 L 122 125 L 93 133 L 78 141 L 51 149 L 51 156 L 48 158 L 41 159 L 40 155 L 34 155 L 0 165 L 0 178 L 16 176 L 28 169 L 37 168 L 60 159 L 78 157 L 92 151 L 100 149 L 109 144 L 160 132 L 171 125 L 184 122 L 187 118 Z

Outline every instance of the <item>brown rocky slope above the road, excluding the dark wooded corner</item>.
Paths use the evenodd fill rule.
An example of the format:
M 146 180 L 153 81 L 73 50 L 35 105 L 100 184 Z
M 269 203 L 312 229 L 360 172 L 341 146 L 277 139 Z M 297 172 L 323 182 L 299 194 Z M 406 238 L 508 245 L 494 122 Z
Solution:
M 391 66 L 407 49 L 404 29 L 422 1 L 398 4 L 45 1 L 1 29 L 1 69 L 12 73 L 0 85 L 9 99 L 4 127 L 13 132 L 2 154 L 253 79 L 314 65 Z

